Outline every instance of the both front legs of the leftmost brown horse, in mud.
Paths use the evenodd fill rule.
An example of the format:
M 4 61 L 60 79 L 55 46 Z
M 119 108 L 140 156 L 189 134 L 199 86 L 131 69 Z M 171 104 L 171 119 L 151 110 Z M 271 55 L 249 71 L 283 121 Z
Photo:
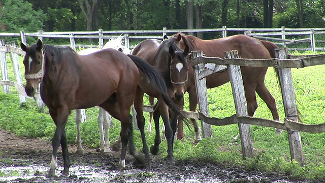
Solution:
M 48 176 L 52 177 L 55 174 L 55 169 L 57 167 L 57 162 L 56 162 L 57 149 L 60 144 L 62 147 L 63 164 L 64 164 L 64 169 L 61 173 L 63 175 L 69 175 L 69 167 L 71 163 L 70 163 L 69 152 L 68 152 L 67 136 L 64 127 L 66 126 L 67 119 L 71 111 L 69 111 L 69 109 L 66 107 L 66 108 L 60 108 L 58 110 L 49 109 L 49 112 L 56 125 L 56 129 L 54 132 L 54 137 L 52 139 L 53 154 L 52 154 L 52 160 L 51 160 Z

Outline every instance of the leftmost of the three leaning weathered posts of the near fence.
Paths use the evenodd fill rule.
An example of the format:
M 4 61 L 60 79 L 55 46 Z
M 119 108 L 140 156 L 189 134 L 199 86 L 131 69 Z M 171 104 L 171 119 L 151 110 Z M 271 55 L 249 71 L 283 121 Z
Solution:
M 196 58 L 199 56 L 202 56 L 202 51 L 191 51 L 192 58 Z M 205 78 L 198 80 L 200 71 L 203 71 L 203 64 L 198 64 L 197 66 L 194 66 L 194 73 L 195 73 L 195 83 L 197 88 L 197 96 L 199 101 L 199 109 L 200 111 L 205 115 L 209 116 L 209 104 L 208 104 L 208 97 L 207 97 L 207 84 L 205 81 Z M 211 125 L 205 123 L 201 120 L 201 126 L 202 126 L 202 136 L 203 138 L 212 138 L 212 129 Z

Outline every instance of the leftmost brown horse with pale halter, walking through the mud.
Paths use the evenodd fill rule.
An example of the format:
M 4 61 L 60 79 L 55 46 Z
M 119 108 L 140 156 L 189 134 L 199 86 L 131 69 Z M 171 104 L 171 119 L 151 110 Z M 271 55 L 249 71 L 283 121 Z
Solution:
M 82 56 L 69 47 L 43 45 L 41 40 L 30 47 L 21 43 L 20 47 L 26 52 L 23 60 L 25 92 L 30 97 L 34 96 L 41 82 L 42 100 L 56 125 L 48 176 L 54 176 L 59 145 L 64 163 L 62 174 L 69 174 L 71 164 L 64 127 L 71 110 L 94 106 L 104 108 L 121 121 L 119 168 L 125 168 L 128 142 L 129 153 L 139 163 L 145 163 L 144 156 L 135 151 L 130 109 L 138 85 L 156 88 L 165 96 L 164 99 L 168 98 L 164 79 L 152 66 L 140 57 L 125 55 L 115 49 L 103 49 Z

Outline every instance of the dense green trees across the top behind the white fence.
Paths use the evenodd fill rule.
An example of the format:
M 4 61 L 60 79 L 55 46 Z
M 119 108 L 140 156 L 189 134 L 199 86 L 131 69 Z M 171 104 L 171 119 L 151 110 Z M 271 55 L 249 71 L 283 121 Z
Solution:
M 323 0 L 0 0 L 0 32 L 325 27 Z M 197 35 L 202 36 L 202 35 Z M 212 39 L 205 34 L 204 39 Z M 18 38 L 16 38 L 18 39 Z

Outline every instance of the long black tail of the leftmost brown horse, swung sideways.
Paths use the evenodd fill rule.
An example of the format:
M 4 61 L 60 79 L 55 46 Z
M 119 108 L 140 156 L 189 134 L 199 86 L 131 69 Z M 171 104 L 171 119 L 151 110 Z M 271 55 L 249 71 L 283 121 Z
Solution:
M 180 109 L 178 109 L 178 107 L 174 104 L 174 102 L 169 98 L 167 93 L 167 86 L 163 76 L 161 76 L 153 66 L 149 65 L 145 60 L 143 60 L 139 56 L 135 56 L 131 54 L 128 54 L 127 56 L 133 60 L 133 62 L 136 64 L 136 66 L 138 67 L 138 69 L 142 74 L 145 74 L 150 79 L 150 81 L 153 81 L 156 88 L 160 91 L 161 96 L 163 97 L 168 107 L 173 112 L 175 112 L 175 114 L 178 115 L 184 121 L 187 127 L 190 129 L 191 127 L 188 124 L 187 118 L 180 113 Z

